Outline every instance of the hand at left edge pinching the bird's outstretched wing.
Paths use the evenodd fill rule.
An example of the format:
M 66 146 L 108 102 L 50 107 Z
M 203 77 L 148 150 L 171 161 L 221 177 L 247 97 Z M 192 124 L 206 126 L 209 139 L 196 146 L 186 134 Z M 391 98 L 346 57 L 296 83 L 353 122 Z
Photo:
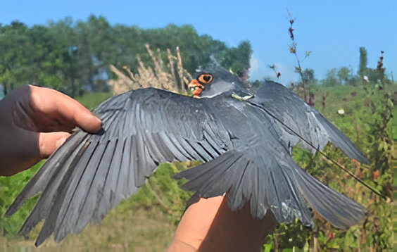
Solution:
M 101 120 L 53 89 L 25 85 L 0 101 L 0 175 L 14 175 L 48 158 L 75 127 L 101 129 Z

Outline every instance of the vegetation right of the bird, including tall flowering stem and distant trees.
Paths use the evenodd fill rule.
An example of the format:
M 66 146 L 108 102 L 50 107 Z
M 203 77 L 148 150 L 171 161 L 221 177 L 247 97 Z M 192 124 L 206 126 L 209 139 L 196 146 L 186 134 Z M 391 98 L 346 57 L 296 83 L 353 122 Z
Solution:
M 357 75 L 351 68 L 341 67 L 329 70 L 324 80 L 315 80 L 314 71 L 303 69 L 301 63 L 304 58 L 301 60 L 296 53 L 297 44 L 292 27 L 294 22 L 290 15 L 289 51 L 296 58 L 295 69 L 296 73 L 301 75 L 301 80 L 291 84 L 291 90 L 310 106 L 317 108 L 352 139 L 370 159 L 371 165 L 362 165 L 346 158 L 332 145 L 327 146 L 323 152 L 372 189 L 382 193 L 386 199 L 391 198 L 391 150 L 393 127 L 396 127 L 392 127 L 392 111 L 393 97 L 396 98 L 396 84 L 385 74 L 384 51 L 380 51 L 377 67 L 368 68 L 367 51 L 361 47 Z M 305 58 L 309 54 L 310 51 L 307 51 Z M 270 68 L 275 70 L 274 66 Z M 306 70 L 310 75 L 305 76 Z M 282 73 L 275 70 L 275 74 L 279 77 Z M 256 81 L 254 85 L 258 87 L 260 82 Z M 363 225 L 351 227 L 343 232 L 334 229 L 317 215 L 315 232 L 304 229 L 299 222 L 280 225 L 275 234 L 267 237 L 267 248 L 308 248 L 313 244 L 318 244 L 321 250 L 391 248 L 393 232 L 389 199 L 383 200 L 376 196 L 319 153 L 313 156 L 300 148 L 294 148 L 293 156 L 301 167 L 324 184 L 363 204 L 367 208 L 367 216 Z

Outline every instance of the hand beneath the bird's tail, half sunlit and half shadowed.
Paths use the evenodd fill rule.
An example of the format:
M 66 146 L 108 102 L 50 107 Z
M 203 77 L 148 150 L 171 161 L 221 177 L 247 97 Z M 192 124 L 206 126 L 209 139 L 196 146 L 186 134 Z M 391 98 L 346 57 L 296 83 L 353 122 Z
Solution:
M 232 211 L 226 196 L 200 199 L 182 216 L 168 252 L 261 251 L 276 223 L 270 210 L 262 220 L 254 219 L 249 203 Z

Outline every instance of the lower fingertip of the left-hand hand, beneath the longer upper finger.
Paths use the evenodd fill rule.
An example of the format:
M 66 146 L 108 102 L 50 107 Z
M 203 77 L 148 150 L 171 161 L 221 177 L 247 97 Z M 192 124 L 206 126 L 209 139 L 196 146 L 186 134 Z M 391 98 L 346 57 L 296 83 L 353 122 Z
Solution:
M 39 133 L 39 153 L 48 158 L 70 136 L 68 132 Z

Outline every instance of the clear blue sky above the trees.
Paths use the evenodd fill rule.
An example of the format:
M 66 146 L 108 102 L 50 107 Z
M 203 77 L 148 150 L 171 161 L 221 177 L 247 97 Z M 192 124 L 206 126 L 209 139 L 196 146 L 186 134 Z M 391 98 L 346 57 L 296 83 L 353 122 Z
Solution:
M 253 46 L 251 79 L 273 76 L 267 65 L 282 73 L 280 82 L 296 80 L 296 60 L 288 51 L 289 15 L 294 23 L 301 58 L 312 51 L 303 68 L 315 77 L 327 70 L 351 67 L 358 70 L 358 49 L 365 46 L 368 67 L 376 68 L 384 53 L 386 73 L 397 75 L 397 1 L 45 1 L 0 0 L 0 23 L 19 20 L 29 26 L 67 16 L 87 20 L 103 15 L 109 23 L 164 27 L 168 23 L 191 24 L 198 34 L 209 34 L 228 46 L 248 39 Z M 183 49 L 182 49 L 183 53 Z

